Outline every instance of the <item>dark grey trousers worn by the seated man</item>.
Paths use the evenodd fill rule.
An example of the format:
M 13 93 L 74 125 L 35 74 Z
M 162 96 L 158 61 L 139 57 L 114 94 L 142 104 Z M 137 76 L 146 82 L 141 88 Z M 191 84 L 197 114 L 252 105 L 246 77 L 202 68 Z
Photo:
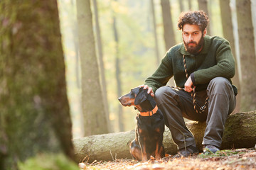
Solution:
M 190 93 L 172 89 L 170 86 L 162 86 L 156 90 L 156 103 L 164 114 L 166 126 L 170 129 L 178 149 L 190 145 L 196 147 L 195 139 L 186 127 L 183 117 L 206 121 L 203 145 L 215 145 L 220 148 L 225 121 L 235 109 L 235 94 L 228 79 L 216 77 L 210 81 L 206 91 L 196 92 L 196 102 L 199 106 L 204 105 L 207 96 L 208 109 L 205 113 L 196 113 Z

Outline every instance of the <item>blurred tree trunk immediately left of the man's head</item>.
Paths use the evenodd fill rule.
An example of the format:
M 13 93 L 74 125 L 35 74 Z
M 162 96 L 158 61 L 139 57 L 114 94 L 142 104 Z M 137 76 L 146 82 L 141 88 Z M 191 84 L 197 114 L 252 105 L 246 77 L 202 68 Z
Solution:
M 164 23 L 164 42 L 166 50 L 176 45 L 174 26 L 171 19 L 171 8 L 169 0 L 161 0 L 161 10 Z

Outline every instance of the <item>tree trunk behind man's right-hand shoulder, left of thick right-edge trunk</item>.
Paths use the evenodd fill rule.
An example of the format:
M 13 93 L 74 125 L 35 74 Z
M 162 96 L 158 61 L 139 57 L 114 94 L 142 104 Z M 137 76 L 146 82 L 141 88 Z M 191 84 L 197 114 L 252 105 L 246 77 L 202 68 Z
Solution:
M 235 57 L 235 38 L 233 34 L 233 23 L 232 23 L 232 16 L 231 16 L 231 8 L 230 8 L 230 0 L 220 0 L 220 14 L 221 14 L 221 23 L 223 26 L 223 35 L 224 38 L 226 38 L 230 42 L 230 47 L 233 53 L 234 58 Z M 238 76 L 238 62 L 235 63 L 235 70 L 236 74 L 235 77 L 232 79 L 233 84 L 240 89 L 240 81 Z M 237 103 L 235 108 L 235 113 L 239 112 L 240 109 L 240 93 L 236 96 Z

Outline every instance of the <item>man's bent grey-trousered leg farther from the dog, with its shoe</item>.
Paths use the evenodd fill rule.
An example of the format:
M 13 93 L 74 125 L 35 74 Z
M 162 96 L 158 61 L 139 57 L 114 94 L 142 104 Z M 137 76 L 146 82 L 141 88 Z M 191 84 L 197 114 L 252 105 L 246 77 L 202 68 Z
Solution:
M 236 100 L 232 85 L 223 77 L 216 77 L 210 81 L 207 94 L 209 96 L 208 116 L 203 145 L 209 150 L 213 148 L 213 152 L 216 152 L 220 149 L 225 121 L 234 111 Z

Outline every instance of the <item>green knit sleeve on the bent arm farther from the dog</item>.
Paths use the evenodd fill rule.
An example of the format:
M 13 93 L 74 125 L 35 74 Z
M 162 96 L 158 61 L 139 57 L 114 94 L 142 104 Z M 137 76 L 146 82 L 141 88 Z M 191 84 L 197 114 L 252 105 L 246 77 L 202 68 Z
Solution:
M 234 77 L 235 60 L 227 40 L 224 40 L 217 48 L 215 59 L 217 64 L 213 67 L 199 69 L 193 73 L 195 84 L 206 84 L 215 77 L 225 77 L 227 79 Z

